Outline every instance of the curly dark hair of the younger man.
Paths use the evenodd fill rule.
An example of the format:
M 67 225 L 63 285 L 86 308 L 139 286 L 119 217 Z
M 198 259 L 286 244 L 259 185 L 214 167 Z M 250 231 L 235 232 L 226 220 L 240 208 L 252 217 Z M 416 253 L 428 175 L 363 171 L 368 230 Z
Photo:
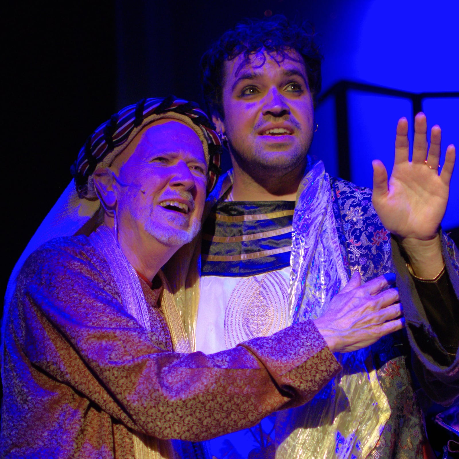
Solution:
M 226 31 L 201 58 L 202 91 L 209 112 L 217 111 L 224 116 L 224 62 L 231 61 L 241 54 L 249 60 L 262 49 L 270 56 L 280 56 L 281 60 L 285 59 L 286 52 L 297 51 L 304 60 L 309 90 L 315 106 L 322 83 L 322 55 L 314 43 L 314 35 L 311 26 L 289 22 L 283 15 L 275 15 L 269 19 L 246 19 L 238 23 L 234 29 Z

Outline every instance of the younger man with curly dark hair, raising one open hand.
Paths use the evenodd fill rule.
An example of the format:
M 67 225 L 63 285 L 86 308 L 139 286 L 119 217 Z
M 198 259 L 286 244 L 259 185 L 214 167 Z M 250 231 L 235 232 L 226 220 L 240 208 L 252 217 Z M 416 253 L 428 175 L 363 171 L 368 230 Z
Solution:
M 308 157 L 320 62 L 313 34 L 285 17 L 241 23 L 202 57 L 205 100 L 233 169 L 207 200 L 190 265 L 175 265 L 185 327 L 211 353 L 320 323 L 345 285 L 379 310 L 363 282 L 396 270 L 407 333 L 337 354 L 343 370 L 311 402 L 209 442 L 218 459 L 419 458 L 426 438 L 410 369 L 433 400 L 458 394 L 459 256 L 439 227 L 454 146 L 439 174 L 441 131 L 432 128 L 427 150 L 419 113 L 412 161 L 408 121 L 397 124 L 389 181 L 377 160 L 373 192 L 331 178 Z

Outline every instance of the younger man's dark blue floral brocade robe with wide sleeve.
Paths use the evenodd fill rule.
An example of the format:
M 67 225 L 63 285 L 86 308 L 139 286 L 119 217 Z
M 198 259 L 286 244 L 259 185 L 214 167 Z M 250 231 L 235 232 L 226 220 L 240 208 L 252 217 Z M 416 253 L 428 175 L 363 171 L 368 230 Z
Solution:
M 428 323 L 397 243 L 391 241 L 371 204 L 371 190 L 340 179 L 331 179 L 330 186 L 345 267 L 349 273 L 358 270 L 364 281 L 395 271 L 407 323 L 406 330 L 382 338 L 371 349 L 378 380 L 391 406 L 391 417 L 369 457 L 422 458 L 425 427 L 414 392 L 419 383 L 413 380 L 410 370 L 415 370 L 414 377 L 433 400 L 449 404 L 459 396 L 459 355 L 448 357 Z M 450 281 L 459 296 L 459 252 L 444 233 L 442 251 Z M 423 341 L 431 341 L 431 346 L 426 348 Z M 438 356 L 442 356 L 441 363 Z

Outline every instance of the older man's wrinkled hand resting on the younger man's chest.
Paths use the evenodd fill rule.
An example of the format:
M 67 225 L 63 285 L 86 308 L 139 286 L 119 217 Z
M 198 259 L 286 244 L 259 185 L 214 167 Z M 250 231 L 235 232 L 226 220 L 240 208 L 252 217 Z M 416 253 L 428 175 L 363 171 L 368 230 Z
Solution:
M 360 285 L 360 274 L 353 274 L 325 313 L 313 319 L 331 352 L 356 351 L 403 328 L 398 290 L 384 290 L 394 282 L 394 274 L 385 274 Z

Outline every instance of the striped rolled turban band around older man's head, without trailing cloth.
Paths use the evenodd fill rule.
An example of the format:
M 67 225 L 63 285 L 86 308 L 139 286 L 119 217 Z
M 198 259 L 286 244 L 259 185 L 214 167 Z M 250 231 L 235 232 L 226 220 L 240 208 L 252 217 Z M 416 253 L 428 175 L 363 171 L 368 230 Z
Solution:
M 221 142 L 213 123 L 195 102 L 170 95 L 142 99 L 135 105 L 124 107 L 88 137 L 71 168 L 78 196 L 96 198 L 93 174 L 97 166 L 110 166 L 141 129 L 160 118 L 180 120 L 199 136 L 209 165 L 207 190 L 212 190 L 220 174 L 221 151 Z

